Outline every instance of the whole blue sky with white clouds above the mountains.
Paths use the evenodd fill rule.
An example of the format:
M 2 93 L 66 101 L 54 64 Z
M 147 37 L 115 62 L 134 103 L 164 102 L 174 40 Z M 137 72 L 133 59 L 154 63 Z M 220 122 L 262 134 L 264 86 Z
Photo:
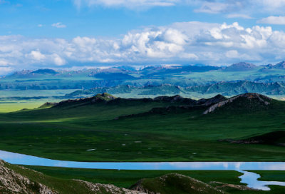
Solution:
M 0 75 L 285 60 L 285 0 L 0 0 Z

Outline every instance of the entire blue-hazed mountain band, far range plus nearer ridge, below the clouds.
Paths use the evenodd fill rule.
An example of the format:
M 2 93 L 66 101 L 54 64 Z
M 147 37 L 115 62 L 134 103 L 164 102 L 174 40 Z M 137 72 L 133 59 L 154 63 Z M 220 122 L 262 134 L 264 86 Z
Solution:
M 97 88 L 96 91 L 91 89 L 82 91 L 81 94 L 78 93 L 78 95 L 83 95 L 109 92 L 108 90 L 111 90 L 110 93 L 122 93 L 126 91 L 127 85 L 135 86 L 136 89 L 130 92 L 135 95 L 189 94 L 190 92 L 199 93 L 198 96 L 202 93 L 223 93 L 225 96 L 232 96 L 247 92 L 283 95 L 283 83 L 285 83 L 285 61 L 264 66 L 240 62 L 228 67 L 206 66 L 198 63 L 194 66 L 145 66 L 141 69 L 133 66 L 120 66 L 80 71 L 48 68 L 36 71 L 23 70 L 0 78 L 0 90 L 89 90 Z M 173 87 L 180 86 L 185 90 L 173 92 L 170 88 L 158 89 L 163 84 Z M 150 89 L 150 86 L 153 88 Z M 124 88 L 123 91 L 121 91 L 122 88 Z M 145 90 L 145 88 L 148 89 Z

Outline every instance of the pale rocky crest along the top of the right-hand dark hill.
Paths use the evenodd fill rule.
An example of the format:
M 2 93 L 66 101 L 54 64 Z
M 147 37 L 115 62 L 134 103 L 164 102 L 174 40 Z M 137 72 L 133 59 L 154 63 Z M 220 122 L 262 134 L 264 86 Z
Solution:
M 207 113 L 210 113 L 210 112 L 214 111 L 216 108 L 224 106 L 227 103 L 232 103 L 233 101 L 237 100 L 237 98 L 249 98 L 249 99 L 250 98 L 256 98 L 258 101 L 260 101 L 261 103 L 264 103 L 265 105 L 269 105 L 270 103 L 267 102 L 267 101 L 264 101 L 262 98 L 266 98 L 269 101 L 272 100 L 271 98 L 269 98 L 267 96 L 263 96 L 263 95 L 261 95 L 259 93 L 244 93 L 244 94 L 241 94 L 241 95 L 238 95 L 238 96 L 234 96 L 233 98 L 229 98 L 226 101 L 222 101 L 222 102 L 214 104 L 213 106 L 209 107 L 207 109 L 207 111 L 204 111 L 203 114 L 205 115 Z

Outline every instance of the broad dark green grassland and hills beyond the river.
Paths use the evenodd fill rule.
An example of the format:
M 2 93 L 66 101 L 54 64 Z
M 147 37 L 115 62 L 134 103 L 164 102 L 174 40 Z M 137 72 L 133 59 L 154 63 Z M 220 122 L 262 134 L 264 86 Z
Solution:
M 218 141 L 284 131 L 282 101 L 260 96 L 269 101 L 266 105 L 259 98 L 239 97 L 202 115 L 224 98 L 110 97 L 105 101 L 104 96 L 1 113 L 0 149 L 81 161 L 285 160 L 283 146 Z

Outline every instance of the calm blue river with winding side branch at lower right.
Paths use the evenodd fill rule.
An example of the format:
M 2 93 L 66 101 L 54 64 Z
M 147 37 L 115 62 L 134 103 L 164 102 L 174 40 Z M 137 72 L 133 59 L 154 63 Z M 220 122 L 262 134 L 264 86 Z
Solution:
M 11 153 L 0 150 L 0 158 L 8 163 L 18 165 L 42 165 L 68 168 L 96 168 L 118 170 L 237 170 L 244 173 L 241 183 L 250 188 L 270 190 L 266 185 L 284 185 L 283 182 L 259 181 L 260 175 L 244 170 L 285 170 L 285 163 L 279 162 L 173 162 L 173 163 L 88 163 L 51 160 L 31 155 Z M 285 188 L 284 188 L 285 190 Z

